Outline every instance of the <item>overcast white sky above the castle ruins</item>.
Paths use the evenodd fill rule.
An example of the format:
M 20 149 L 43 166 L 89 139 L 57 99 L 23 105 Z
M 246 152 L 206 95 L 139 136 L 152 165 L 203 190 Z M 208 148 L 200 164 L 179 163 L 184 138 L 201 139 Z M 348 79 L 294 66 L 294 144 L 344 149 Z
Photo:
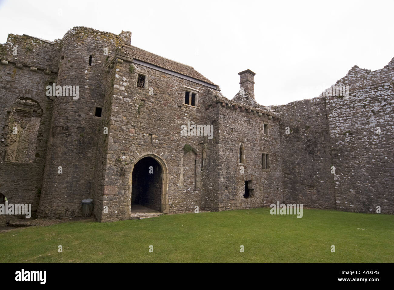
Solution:
M 119 34 L 132 45 L 193 66 L 232 98 L 238 72 L 255 75 L 255 99 L 282 105 L 318 96 L 353 65 L 394 57 L 394 1 L 0 0 L 7 34 L 53 41 L 73 26 Z

